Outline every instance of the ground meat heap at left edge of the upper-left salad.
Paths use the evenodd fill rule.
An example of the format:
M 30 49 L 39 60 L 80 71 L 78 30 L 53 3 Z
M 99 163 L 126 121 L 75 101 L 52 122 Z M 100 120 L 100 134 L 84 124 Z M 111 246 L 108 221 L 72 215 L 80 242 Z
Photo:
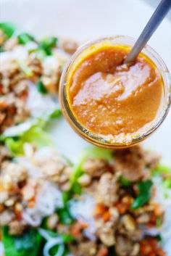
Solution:
M 25 101 L 28 96 L 28 80 L 14 59 L 6 59 L 0 65 L 0 133 L 11 125 L 24 121 L 30 112 Z

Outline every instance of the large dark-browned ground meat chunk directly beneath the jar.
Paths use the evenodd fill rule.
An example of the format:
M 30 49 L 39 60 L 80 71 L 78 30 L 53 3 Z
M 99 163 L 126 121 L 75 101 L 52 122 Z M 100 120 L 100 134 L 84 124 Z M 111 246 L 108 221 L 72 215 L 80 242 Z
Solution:
M 115 157 L 115 170 L 128 181 L 138 181 L 143 177 L 145 160 L 140 146 L 117 150 Z

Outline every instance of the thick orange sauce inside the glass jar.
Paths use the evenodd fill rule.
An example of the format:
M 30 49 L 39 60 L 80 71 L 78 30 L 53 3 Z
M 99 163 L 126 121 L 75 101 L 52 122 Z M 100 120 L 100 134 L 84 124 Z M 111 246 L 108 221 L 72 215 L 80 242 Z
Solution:
M 146 130 L 164 99 L 162 77 L 146 55 L 121 65 L 128 46 L 101 46 L 72 70 L 67 99 L 78 123 L 100 136 L 130 136 Z

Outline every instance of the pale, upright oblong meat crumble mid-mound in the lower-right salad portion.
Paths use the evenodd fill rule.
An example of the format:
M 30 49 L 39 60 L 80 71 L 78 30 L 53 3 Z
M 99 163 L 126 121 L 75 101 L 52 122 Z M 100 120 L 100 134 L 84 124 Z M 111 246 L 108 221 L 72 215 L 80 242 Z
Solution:
M 112 173 L 104 173 L 101 176 L 97 187 L 97 202 L 102 203 L 107 207 L 111 207 L 114 202 L 117 202 L 118 200 L 118 189 L 119 184 L 117 178 Z

